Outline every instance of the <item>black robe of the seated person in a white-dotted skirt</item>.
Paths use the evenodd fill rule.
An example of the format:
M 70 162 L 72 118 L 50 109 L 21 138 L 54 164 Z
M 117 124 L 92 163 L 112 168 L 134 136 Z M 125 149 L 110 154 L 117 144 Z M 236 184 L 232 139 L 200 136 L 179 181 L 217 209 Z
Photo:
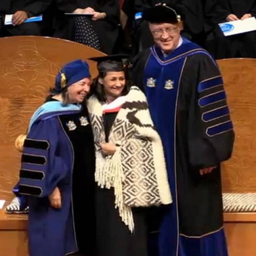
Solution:
M 91 7 L 96 12 L 105 12 L 107 17 L 92 22 L 99 36 L 101 51 L 112 54 L 119 34 L 120 7 L 118 0 L 56 0 L 57 14 L 55 18 L 55 37 L 73 40 L 74 17 L 67 17 L 65 12 L 73 12 L 77 8 Z

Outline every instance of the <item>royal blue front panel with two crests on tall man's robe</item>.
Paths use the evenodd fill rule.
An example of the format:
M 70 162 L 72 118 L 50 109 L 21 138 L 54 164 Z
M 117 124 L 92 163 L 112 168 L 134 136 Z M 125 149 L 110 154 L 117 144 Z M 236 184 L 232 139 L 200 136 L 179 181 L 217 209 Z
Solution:
M 154 125 L 163 142 L 169 183 L 171 185 L 173 203 L 165 216 L 160 230 L 160 255 L 171 252 L 178 243 L 178 220 L 175 174 L 175 122 L 179 80 L 185 59 L 181 58 L 172 64 L 160 64 L 154 48 L 145 67 L 144 89 Z M 158 52 L 161 56 L 161 52 Z M 165 58 L 162 58 L 165 61 Z M 168 59 L 166 59 L 168 60 Z M 170 72 L 172 70 L 172 72 Z M 172 247 L 172 248 L 170 248 Z M 175 254 L 173 255 L 175 256 Z

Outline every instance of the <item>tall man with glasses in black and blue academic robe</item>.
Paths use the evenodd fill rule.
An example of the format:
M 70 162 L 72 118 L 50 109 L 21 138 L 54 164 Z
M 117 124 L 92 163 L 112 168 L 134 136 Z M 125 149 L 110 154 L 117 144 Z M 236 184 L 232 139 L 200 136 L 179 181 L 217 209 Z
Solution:
M 162 139 L 174 199 L 150 236 L 152 248 L 159 239 L 150 255 L 228 256 L 220 163 L 231 156 L 234 132 L 220 71 L 209 52 L 180 37 L 168 6 L 143 17 L 156 44 L 134 58 L 132 73 Z

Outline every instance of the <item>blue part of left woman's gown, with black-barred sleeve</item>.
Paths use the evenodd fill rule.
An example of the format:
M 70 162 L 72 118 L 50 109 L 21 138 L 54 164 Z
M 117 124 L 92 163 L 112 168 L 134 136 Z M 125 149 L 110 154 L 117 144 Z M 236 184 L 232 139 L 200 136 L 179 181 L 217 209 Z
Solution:
M 42 142 L 49 146 L 44 147 Z M 30 255 L 64 256 L 76 252 L 71 202 L 73 149 L 58 116 L 32 124 L 24 155 L 21 169 L 26 171 L 20 172 L 19 190 L 29 195 Z M 43 157 L 45 161 L 35 163 L 31 156 Z M 61 190 L 61 209 L 49 206 L 48 196 L 56 186 Z

